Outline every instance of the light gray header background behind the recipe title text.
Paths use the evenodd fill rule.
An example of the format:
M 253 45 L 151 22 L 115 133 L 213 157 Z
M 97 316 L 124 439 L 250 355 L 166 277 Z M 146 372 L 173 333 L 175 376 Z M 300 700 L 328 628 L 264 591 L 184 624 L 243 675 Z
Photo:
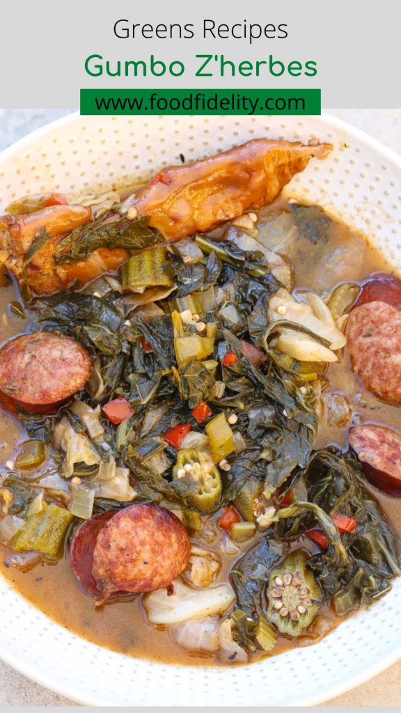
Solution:
M 6 0 L 1 8 L 1 107 L 65 108 L 79 104 L 79 89 L 137 87 L 321 88 L 323 106 L 401 106 L 398 0 Z M 193 39 L 118 39 L 118 19 L 133 23 L 192 23 Z M 204 40 L 203 19 L 216 23 L 287 24 L 285 39 Z M 90 54 L 166 62 L 180 59 L 178 78 L 91 78 L 84 71 Z M 315 78 L 195 78 L 196 53 L 223 53 L 233 61 L 270 54 L 283 62 L 314 60 Z

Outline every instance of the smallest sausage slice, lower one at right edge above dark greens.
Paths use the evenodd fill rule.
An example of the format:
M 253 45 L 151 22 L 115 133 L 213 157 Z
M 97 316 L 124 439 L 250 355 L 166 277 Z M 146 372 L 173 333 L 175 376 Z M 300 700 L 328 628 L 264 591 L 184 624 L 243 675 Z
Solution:
M 354 426 L 350 446 L 361 461 L 367 480 L 379 490 L 401 497 L 401 434 L 386 426 Z

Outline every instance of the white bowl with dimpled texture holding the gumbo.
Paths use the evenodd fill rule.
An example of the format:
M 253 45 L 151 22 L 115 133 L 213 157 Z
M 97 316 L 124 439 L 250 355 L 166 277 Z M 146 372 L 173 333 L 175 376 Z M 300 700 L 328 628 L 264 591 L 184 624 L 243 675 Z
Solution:
M 48 125 L 0 154 L 0 212 L 26 193 L 121 185 L 169 163 L 266 136 L 318 136 L 288 194 L 318 202 L 401 268 L 401 159 L 350 125 L 322 117 L 80 117 Z M 246 667 L 161 665 L 116 654 L 54 623 L 0 577 L 0 656 L 66 697 L 92 705 L 310 705 L 362 683 L 401 656 L 401 580 L 318 645 Z M 129 616 L 129 609 L 127 609 Z

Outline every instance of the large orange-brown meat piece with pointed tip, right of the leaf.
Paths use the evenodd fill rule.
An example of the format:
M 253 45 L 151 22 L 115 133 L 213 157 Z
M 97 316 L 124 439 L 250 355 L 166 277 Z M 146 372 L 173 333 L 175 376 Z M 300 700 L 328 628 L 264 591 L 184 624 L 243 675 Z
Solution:
M 163 168 L 126 205 L 150 215 L 149 225 L 167 240 L 178 240 L 268 205 L 310 158 L 327 158 L 332 148 L 257 138 L 186 166 Z

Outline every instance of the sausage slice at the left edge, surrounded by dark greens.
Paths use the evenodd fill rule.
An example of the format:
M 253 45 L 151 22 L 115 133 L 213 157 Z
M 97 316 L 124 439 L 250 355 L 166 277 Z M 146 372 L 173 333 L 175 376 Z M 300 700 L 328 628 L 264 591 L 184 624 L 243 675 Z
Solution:
M 51 332 L 23 334 L 0 351 L 0 396 L 32 413 L 56 411 L 83 389 L 91 358 L 75 339 Z

